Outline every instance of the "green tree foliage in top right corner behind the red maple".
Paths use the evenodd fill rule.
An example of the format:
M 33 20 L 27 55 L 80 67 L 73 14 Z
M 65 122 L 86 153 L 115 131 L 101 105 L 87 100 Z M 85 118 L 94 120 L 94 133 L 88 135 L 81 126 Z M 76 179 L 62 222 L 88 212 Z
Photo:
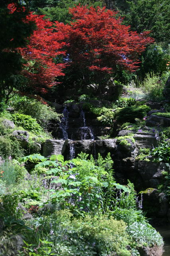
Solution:
M 169 0 L 129 0 L 124 24 L 138 33 L 151 30 L 156 42 L 170 43 L 170 1 Z

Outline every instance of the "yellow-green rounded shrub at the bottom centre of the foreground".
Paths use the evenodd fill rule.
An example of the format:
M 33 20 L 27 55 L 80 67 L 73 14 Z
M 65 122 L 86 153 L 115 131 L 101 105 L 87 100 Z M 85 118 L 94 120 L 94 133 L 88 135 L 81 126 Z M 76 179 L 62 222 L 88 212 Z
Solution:
M 113 217 L 107 218 L 107 216 L 100 218 L 87 216 L 80 221 L 74 219 L 72 226 L 76 235 L 82 237 L 87 244 L 91 246 L 94 244 L 94 251 L 101 256 L 111 252 L 121 256 L 131 255 L 126 249 L 129 241 L 125 231 L 126 224 L 122 220 L 114 220 Z

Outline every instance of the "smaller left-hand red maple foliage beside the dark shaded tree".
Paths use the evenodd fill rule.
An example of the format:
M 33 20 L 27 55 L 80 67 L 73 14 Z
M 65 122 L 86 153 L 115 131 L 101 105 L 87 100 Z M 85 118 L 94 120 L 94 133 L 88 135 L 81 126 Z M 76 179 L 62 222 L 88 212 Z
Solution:
M 63 35 L 55 32 L 53 23 L 44 20 L 43 16 L 30 13 L 25 22 L 34 21 L 37 29 L 29 38 L 26 48 L 19 48 L 22 57 L 27 61 L 22 74 L 29 78 L 29 86 L 38 92 L 45 93 L 47 88 L 56 84 L 57 76 L 64 76 L 64 64 L 55 64 L 54 59 L 64 52 L 59 51 L 63 46 Z

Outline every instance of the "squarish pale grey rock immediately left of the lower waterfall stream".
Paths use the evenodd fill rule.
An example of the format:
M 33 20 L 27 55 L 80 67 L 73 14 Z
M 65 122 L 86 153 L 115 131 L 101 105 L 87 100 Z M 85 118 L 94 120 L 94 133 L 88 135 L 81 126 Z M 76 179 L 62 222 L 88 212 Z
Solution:
M 43 144 L 43 156 L 64 154 L 68 140 L 46 140 Z

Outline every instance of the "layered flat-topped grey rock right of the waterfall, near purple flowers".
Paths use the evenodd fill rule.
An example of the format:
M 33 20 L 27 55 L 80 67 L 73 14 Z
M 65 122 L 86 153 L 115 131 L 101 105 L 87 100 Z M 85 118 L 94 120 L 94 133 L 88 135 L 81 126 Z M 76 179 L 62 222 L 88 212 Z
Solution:
M 137 132 L 133 138 L 138 148 L 152 148 L 158 145 L 155 135 L 149 132 Z

